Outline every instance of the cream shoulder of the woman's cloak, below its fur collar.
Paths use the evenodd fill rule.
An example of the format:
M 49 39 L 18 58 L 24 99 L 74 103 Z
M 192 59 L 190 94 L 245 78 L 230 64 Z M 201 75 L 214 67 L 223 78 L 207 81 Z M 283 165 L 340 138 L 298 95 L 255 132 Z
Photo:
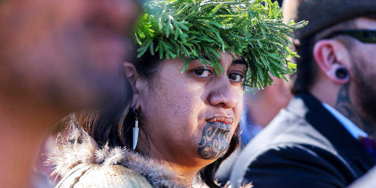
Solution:
M 142 175 L 122 165 L 80 164 L 56 188 L 152 188 Z

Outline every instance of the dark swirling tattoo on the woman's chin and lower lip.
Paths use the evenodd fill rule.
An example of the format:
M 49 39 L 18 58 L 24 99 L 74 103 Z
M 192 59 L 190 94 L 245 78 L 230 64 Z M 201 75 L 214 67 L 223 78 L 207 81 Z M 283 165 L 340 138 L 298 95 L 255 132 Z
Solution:
M 219 122 L 207 122 L 203 131 L 197 153 L 203 159 L 218 159 L 222 157 L 230 143 L 229 124 Z

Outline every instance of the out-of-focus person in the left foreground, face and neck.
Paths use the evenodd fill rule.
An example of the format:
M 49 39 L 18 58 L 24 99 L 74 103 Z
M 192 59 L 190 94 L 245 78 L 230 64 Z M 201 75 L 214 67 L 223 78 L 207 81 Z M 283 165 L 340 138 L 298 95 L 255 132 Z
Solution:
M 0 185 L 30 187 L 47 127 L 124 94 L 133 0 L 0 1 Z

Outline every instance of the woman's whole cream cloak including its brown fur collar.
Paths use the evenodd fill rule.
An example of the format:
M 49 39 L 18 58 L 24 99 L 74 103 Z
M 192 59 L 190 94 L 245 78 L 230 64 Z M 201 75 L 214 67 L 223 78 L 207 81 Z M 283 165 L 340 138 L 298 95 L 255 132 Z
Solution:
M 158 160 L 147 158 L 126 148 L 110 147 L 108 144 L 99 147 L 86 131 L 77 126 L 71 127 L 69 132 L 67 137 L 59 136 L 56 153 L 50 154 L 47 162 L 54 165 L 54 173 L 63 178 L 57 188 L 74 187 L 75 185 L 77 187 L 101 185 L 100 187 L 108 188 L 146 186 L 187 188 L 181 177 L 167 169 Z M 89 172 L 90 175 L 87 175 Z M 87 178 L 88 176 L 89 178 Z M 81 180 L 85 179 L 83 177 L 89 180 Z M 145 179 L 147 183 L 142 185 Z M 123 183 L 119 183 L 119 180 Z M 92 181 L 92 186 L 83 183 L 90 181 Z M 207 188 L 198 176 L 195 177 L 194 182 L 192 188 Z M 244 188 L 251 187 L 251 184 L 244 186 Z

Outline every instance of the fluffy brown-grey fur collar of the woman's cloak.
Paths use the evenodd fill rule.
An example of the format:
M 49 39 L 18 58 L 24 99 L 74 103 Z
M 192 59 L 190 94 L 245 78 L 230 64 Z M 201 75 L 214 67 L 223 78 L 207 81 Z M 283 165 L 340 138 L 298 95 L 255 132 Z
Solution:
M 72 171 L 77 171 L 74 169 L 77 166 L 90 168 L 99 164 L 106 168 L 121 165 L 145 177 L 154 188 L 187 187 L 175 172 L 166 169 L 157 160 L 146 158 L 126 148 L 110 147 L 108 144 L 99 147 L 87 132 L 76 127 L 71 128 L 69 132 L 66 138 L 60 136 L 57 151 L 50 154 L 48 161 L 55 166 L 54 173 L 63 177 L 63 180 L 66 176 L 71 176 Z

